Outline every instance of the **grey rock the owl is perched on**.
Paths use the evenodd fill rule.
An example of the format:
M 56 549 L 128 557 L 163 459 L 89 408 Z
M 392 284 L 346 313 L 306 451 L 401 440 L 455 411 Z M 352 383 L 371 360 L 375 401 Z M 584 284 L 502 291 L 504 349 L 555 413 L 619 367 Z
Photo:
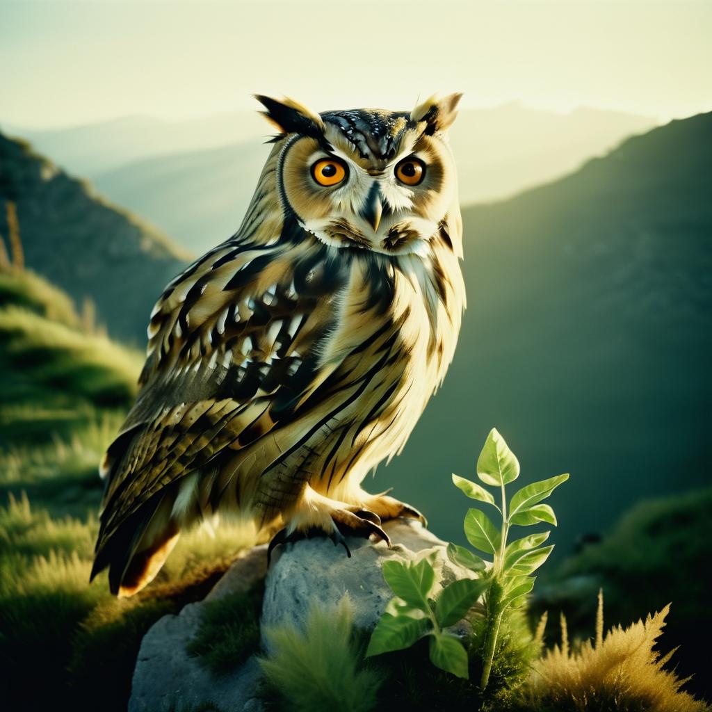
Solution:
M 354 604 L 357 627 L 372 628 L 392 592 L 383 579 L 384 561 L 415 559 L 425 550 L 436 554 L 440 584 L 473 577 L 445 556 L 446 543 L 412 520 L 385 526 L 393 546 L 350 538 L 351 557 L 325 538 L 288 544 L 273 553 L 266 576 L 261 627 L 300 622 L 310 605 L 333 607 L 347 593 Z M 206 601 L 248 590 L 266 575 L 266 546 L 237 560 L 206 597 Z M 210 702 L 219 712 L 260 712 L 257 689 L 261 671 L 254 657 L 233 673 L 214 676 L 185 651 L 199 627 L 204 602 L 184 607 L 179 615 L 160 619 L 145 635 L 138 654 L 129 702 L 130 712 L 190 712 Z M 263 639 L 263 646 L 266 642 Z

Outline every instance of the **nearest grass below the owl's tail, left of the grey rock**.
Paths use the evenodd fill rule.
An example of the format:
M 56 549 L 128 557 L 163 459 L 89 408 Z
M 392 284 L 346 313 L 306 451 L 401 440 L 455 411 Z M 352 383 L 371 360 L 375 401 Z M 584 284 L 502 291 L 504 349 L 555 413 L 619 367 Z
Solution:
M 26 497 L 0 508 L 0 666 L 11 703 L 91 710 L 106 693 L 103 707 L 125 709 L 147 629 L 203 598 L 252 543 L 238 527 L 221 527 L 215 538 L 195 530 L 151 587 L 117 600 L 105 574 L 88 583 L 97 530 L 93 516 L 53 518 Z

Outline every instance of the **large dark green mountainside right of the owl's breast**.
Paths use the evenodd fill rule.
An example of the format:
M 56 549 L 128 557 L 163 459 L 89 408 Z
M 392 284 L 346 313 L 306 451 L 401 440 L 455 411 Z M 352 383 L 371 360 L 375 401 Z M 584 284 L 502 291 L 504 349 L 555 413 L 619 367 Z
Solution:
M 709 113 L 464 211 L 454 364 L 373 487 L 395 485 L 440 536 L 462 538 L 454 513 L 467 502 L 450 473 L 473 476 L 496 426 L 524 481 L 572 473 L 553 501 L 561 555 L 642 496 L 708 483 L 711 170 Z

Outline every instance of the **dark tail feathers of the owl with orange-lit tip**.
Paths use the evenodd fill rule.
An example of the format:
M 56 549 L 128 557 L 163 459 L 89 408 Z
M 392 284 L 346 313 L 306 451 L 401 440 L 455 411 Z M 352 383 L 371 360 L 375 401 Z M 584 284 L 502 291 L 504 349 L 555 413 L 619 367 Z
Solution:
M 143 522 L 127 520 L 98 550 L 90 581 L 108 567 L 109 589 L 119 598 L 130 597 L 149 585 L 180 535 L 174 521 L 161 522 L 157 515 L 159 512 Z

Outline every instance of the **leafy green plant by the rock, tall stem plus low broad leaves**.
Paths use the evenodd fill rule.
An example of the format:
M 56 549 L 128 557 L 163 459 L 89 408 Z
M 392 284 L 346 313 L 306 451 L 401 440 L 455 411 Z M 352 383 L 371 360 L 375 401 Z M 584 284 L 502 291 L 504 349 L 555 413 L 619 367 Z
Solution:
M 486 562 L 470 550 L 449 544 L 451 562 L 474 572 L 476 579 L 464 578 L 444 587 L 431 597 L 435 585 L 432 555 L 417 562 L 388 561 L 383 565 L 384 578 L 396 595 L 375 627 L 367 656 L 379 655 L 412 646 L 429 636 L 432 663 L 447 672 L 468 678 L 468 654 L 456 634 L 446 631 L 466 616 L 481 595 L 486 601 L 486 624 L 481 650 L 483 668 L 481 689 L 486 689 L 497 648 L 503 614 L 525 602 L 535 577 L 531 574 L 545 562 L 553 546 L 542 546 L 549 532 L 528 535 L 508 544 L 512 525 L 528 526 L 539 522 L 556 525 L 553 509 L 541 502 L 566 481 L 568 475 L 532 483 L 506 498 L 505 487 L 519 476 L 519 462 L 503 437 L 492 429 L 477 460 L 477 475 L 489 486 L 501 489 L 501 506 L 481 485 L 453 475 L 453 482 L 468 497 L 496 508 L 502 517 L 496 528 L 488 516 L 470 509 L 465 517 L 465 534 L 473 547 L 493 555 Z

